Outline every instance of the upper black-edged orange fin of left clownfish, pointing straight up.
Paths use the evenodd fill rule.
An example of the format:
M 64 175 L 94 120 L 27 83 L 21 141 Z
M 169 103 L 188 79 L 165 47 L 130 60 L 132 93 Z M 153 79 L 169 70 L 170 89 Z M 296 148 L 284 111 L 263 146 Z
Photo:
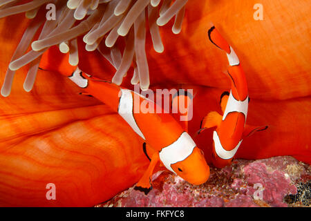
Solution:
M 189 111 L 188 107 L 191 105 L 191 102 L 193 100 L 193 95 L 189 93 L 187 90 L 182 90 L 182 93 L 180 90 L 177 91 L 172 97 L 171 100 L 171 113 L 178 113 L 178 122 L 180 123 L 180 126 L 182 126 L 182 129 L 188 133 L 188 120 L 189 119 Z M 186 113 L 180 112 L 180 106 L 179 102 L 182 102 L 184 104 L 184 108 L 187 104 L 187 111 Z M 189 103 L 190 102 L 190 103 Z M 186 120 L 180 120 L 182 118 Z

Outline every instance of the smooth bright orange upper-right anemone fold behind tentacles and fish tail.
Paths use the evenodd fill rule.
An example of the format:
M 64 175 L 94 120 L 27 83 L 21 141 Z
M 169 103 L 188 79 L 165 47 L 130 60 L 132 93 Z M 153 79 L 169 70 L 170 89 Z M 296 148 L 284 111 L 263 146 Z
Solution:
M 170 82 L 228 88 L 227 77 L 218 74 L 227 70 L 227 57 L 206 40 L 212 22 L 243 61 L 252 99 L 274 101 L 310 96 L 310 2 L 263 0 L 263 20 L 254 19 L 256 3 L 188 1 L 180 34 L 171 32 L 173 21 L 160 28 L 164 52 L 155 52 L 147 35 L 151 86 Z M 115 69 L 99 52 L 90 53 L 84 47 L 81 43 L 79 53 L 84 59 L 79 68 L 110 80 Z M 124 81 L 127 87 L 131 74 Z

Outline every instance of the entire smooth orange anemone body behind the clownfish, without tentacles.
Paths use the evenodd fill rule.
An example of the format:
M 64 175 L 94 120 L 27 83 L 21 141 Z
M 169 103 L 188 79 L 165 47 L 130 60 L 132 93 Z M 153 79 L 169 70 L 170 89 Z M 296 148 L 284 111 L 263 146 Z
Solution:
M 310 3 L 263 0 L 263 21 L 253 17 L 255 3 L 189 1 L 182 32 L 173 35 L 171 22 L 161 29 L 162 54 L 153 51 L 147 36 L 151 88 L 195 89 L 190 135 L 207 113 L 220 113 L 219 98 L 229 80 L 222 73 L 227 58 L 207 39 L 213 22 L 243 62 L 251 98 L 247 124 L 269 126 L 243 140 L 236 157 L 292 155 L 311 164 Z M 0 20 L 1 83 L 27 23 L 24 15 Z M 80 44 L 79 68 L 110 80 L 114 68 Z M 42 61 L 53 71 L 39 70 L 30 93 L 23 91 L 23 67 L 11 95 L 0 99 L 1 206 L 91 206 L 138 182 L 149 164 L 142 139 L 120 116 L 79 95 L 81 90 L 57 73 L 73 68 L 55 48 Z M 126 77 L 122 86 L 130 88 L 129 81 Z M 207 162 L 211 132 L 195 137 Z M 50 180 L 56 180 L 56 200 L 46 198 Z

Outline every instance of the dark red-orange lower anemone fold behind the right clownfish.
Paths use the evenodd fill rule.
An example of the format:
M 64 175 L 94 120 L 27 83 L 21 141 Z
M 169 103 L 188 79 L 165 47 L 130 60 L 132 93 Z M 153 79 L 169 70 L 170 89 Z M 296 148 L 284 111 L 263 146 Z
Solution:
M 224 74 L 219 73 L 219 75 Z M 207 113 L 217 111 L 222 114 L 219 100 L 224 90 L 193 85 L 188 85 L 187 88 L 194 89 L 195 94 L 194 117 L 188 122 L 189 134 L 194 137 L 198 147 L 204 151 L 207 164 L 212 165 L 213 134 L 216 128 L 207 128 L 197 136 L 196 133 Z M 280 108 L 282 111 L 278 111 Z M 268 128 L 267 131 L 254 133 L 249 137 L 243 136 L 243 141 L 234 158 L 255 160 L 290 155 L 297 160 L 311 164 L 309 147 L 311 137 L 303 132 L 308 131 L 311 126 L 310 108 L 311 97 L 273 102 L 251 97 L 248 104 L 247 124 L 267 125 Z M 222 116 L 220 117 L 222 119 Z M 232 125 L 234 124 L 231 124 L 230 128 L 233 127 Z

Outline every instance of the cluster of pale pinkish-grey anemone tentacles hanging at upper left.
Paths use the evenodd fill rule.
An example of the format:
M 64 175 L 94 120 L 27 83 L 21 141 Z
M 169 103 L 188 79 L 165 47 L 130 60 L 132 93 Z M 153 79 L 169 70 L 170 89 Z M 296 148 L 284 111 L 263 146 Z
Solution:
M 46 19 L 48 3 L 55 6 L 55 19 Z M 77 66 L 77 37 L 81 35 L 86 50 L 99 50 L 115 67 L 113 83 L 122 83 L 133 62 L 131 83 L 139 82 L 142 90 L 147 90 L 149 67 L 145 51 L 146 21 L 149 23 L 154 50 L 162 52 L 164 46 L 159 26 L 164 26 L 175 17 L 172 31 L 178 34 L 186 3 L 187 0 L 0 0 L 0 19 L 25 13 L 32 20 L 12 56 L 1 95 L 10 95 L 15 71 L 26 64 L 29 69 L 23 88 L 32 90 L 41 56 L 51 46 L 58 45 L 61 52 L 69 53 L 69 64 Z M 39 30 L 38 39 L 33 41 Z M 124 37 L 126 43 L 123 53 L 115 44 L 118 37 Z M 27 52 L 30 44 L 31 50 Z M 104 50 L 100 47 L 103 44 Z

